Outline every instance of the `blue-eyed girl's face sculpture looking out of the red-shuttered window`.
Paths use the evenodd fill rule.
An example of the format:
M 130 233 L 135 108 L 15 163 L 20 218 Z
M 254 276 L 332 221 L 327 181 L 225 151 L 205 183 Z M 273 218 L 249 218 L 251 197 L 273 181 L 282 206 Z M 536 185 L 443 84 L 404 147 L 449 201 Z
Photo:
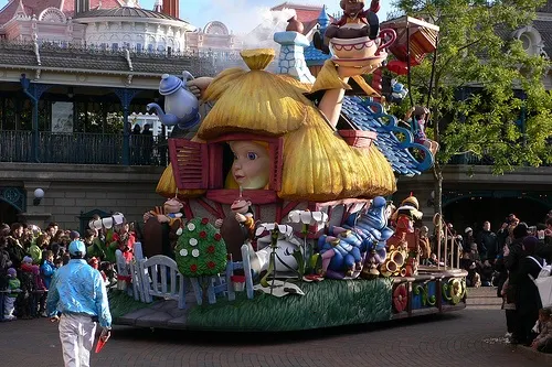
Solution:
M 253 141 L 231 141 L 230 148 L 234 153 L 232 175 L 236 183 L 243 188 L 264 188 L 270 176 L 267 149 Z

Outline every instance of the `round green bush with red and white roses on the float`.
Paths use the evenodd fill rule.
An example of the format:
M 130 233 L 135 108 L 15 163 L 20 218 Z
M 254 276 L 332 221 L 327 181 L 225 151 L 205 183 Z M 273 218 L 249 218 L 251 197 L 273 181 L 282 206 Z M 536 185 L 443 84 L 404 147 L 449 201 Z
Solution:
M 226 245 L 208 218 L 193 218 L 177 241 L 179 271 L 189 278 L 215 276 L 226 269 Z

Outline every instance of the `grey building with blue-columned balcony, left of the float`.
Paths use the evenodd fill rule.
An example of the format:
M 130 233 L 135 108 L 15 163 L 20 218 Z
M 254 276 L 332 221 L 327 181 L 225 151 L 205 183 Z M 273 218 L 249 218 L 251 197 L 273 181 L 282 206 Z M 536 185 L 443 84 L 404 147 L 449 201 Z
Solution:
M 162 203 L 155 188 L 167 140 L 146 105 L 163 105 L 162 74 L 213 76 L 233 65 L 210 50 L 229 50 L 222 23 L 205 30 L 216 42 L 185 46 L 195 28 L 178 19 L 176 2 L 152 11 L 117 0 L 12 0 L 0 10 L 0 222 L 84 229 L 93 214 L 138 220 Z M 131 133 L 145 123 L 152 137 Z M 39 205 L 36 188 L 45 192 Z

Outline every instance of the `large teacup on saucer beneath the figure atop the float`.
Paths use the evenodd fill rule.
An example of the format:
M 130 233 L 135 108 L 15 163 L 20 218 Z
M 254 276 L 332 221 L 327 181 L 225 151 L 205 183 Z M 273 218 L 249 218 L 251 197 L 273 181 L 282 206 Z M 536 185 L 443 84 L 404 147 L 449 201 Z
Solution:
M 388 37 L 388 41 L 384 41 Z M 378 64 L 388 57 L 384 52 L 396 40 L 394 30 L 385 29 L 380 31 L 375 40 L 370 37 L 357 39 L 331 39 L 331 60 L 338 65 L 364 67 L 371 63 Z

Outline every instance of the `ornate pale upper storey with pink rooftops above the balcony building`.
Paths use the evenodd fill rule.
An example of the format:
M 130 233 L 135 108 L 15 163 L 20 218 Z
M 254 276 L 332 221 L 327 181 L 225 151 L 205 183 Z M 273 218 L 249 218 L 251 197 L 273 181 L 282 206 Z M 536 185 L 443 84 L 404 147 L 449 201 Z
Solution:
M 158 1 L 153 10 L 136 0 L 10 0 L 0 9 L 0 39 L 160 54 L 241 50 L 241 40 L 224 23 L 200 29 L 179 17 L 178 0 Z

